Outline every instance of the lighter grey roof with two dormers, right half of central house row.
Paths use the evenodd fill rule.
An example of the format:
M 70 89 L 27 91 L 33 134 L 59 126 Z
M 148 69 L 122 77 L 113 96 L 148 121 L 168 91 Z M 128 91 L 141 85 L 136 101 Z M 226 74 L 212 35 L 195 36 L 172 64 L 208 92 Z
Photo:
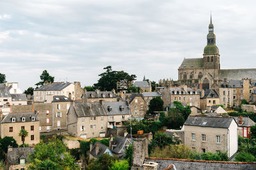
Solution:
M 125 101 L 106 102 L 104 104 L 107 115 L 130 115 L 131 111 L 129 110 L 128 106 L 128 103 Z M 109 111 L 108 107 L 112 108 L 112 111 Z M 124 109 L 123 111 L 122 108 Z

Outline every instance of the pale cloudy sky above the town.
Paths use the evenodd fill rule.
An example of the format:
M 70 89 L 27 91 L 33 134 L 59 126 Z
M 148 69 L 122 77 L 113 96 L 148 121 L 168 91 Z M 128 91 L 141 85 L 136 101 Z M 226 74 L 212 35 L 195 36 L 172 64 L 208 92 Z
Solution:
M 256 67 L 256 1 L 1 0 L 0 73 L 20 89 L 46 69 L 55 81 L 97 83 L 103 68 L 177 80 L 203 57 L 212 13 L 221 69 Z

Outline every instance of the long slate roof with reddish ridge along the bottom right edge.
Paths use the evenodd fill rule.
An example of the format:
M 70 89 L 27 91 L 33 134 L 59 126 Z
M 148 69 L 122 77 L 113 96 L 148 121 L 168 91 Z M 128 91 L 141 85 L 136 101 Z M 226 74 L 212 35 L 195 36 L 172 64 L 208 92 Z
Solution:
M 146 157 L 145 162 L 158 163 L 157 169 L 164 169 L 170 164 L 174 164 L 176 169 L 204 169 L 204 170 L 234 170 L 234 169 L 256 169 L 256 162 L 224 162 L 210 160 L 186 160 L 186 159 L 156 159 Z

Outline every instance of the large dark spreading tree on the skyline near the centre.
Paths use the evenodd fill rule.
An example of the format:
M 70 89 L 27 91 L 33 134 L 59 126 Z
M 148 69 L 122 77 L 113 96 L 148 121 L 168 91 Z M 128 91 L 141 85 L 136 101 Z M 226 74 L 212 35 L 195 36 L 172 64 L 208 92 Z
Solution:
M 124 82 L 128 85 L 129 82 L 136 80 L 136 75 L 130 75 L 124 71 L 112 71 L 111 66 L 104 67 L 104 69 L 106 69 L 106 71 L 99 74 L 100 78 L 98 83 L 94 84 L 95 88 L 101 91 L 111 91 L 112 89 L 116 90 L 117 82 Z

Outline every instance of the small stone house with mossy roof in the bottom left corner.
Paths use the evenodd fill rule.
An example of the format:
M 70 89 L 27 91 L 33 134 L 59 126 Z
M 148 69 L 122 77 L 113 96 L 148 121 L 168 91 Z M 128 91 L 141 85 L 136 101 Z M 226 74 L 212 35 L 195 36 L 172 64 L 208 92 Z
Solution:
M 28 169 L 29 155 L 34 152 L 32 147 L 12 148 L 8 146 L 6 166 L 10 170 Z

